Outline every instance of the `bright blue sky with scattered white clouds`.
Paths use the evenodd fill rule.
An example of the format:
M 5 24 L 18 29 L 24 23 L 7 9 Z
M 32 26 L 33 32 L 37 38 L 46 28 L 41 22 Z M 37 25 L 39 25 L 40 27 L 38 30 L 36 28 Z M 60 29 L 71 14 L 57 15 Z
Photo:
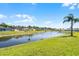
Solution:
M 69 28 L 64 16 L 79 17 L 78 3 L 0 3 L 0 23 L 21 26 Z M 79 23 L 74 24 L 79 28 Z

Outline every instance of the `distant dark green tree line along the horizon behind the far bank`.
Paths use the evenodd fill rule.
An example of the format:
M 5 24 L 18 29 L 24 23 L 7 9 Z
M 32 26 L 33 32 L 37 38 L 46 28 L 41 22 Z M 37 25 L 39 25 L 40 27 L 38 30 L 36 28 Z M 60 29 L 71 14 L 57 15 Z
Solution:
M 22 29 L 36 29 L 36 30 L 57 30 L 56 28 L 48 28 L 48 27 L 38 27 L 38 26 L 20 26 L 20 25 L 8 25 L 6 23 L 1 23 L 0 24 L 0 28 L 3 27 L 3 28 L 12 28 L 12 29 L 19 29 L 19 30 L 22 30 Z

